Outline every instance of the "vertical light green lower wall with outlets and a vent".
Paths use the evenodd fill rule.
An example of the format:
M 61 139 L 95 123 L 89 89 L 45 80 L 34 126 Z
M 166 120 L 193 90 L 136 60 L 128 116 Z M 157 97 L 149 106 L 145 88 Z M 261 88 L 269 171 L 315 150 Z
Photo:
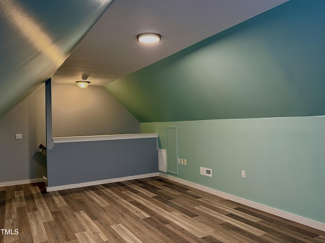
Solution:
M 178 157 L 187 159 L 178 178 L 325 223 L 324 124 L 325 116 L 219 119 L 142 123 L 141 132 L 159 133 L 166 148 L 166 127 L 177 126 Z

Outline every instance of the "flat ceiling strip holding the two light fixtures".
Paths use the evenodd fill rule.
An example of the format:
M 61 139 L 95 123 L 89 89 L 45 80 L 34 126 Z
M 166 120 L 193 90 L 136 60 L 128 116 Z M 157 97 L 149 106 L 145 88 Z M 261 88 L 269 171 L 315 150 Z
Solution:
M 288 0 L 115 0 L 57 70 L 55 84 L 82 75 L 103 86 Z M 136 41 L 143 32 L 161 42 Z

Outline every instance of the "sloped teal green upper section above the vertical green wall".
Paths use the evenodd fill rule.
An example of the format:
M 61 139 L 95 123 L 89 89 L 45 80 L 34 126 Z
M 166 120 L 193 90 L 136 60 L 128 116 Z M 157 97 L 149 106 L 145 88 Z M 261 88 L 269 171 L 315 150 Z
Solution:
M 141 122 L 325 114 L 324 12 L 291 0 L 106 89 Z

